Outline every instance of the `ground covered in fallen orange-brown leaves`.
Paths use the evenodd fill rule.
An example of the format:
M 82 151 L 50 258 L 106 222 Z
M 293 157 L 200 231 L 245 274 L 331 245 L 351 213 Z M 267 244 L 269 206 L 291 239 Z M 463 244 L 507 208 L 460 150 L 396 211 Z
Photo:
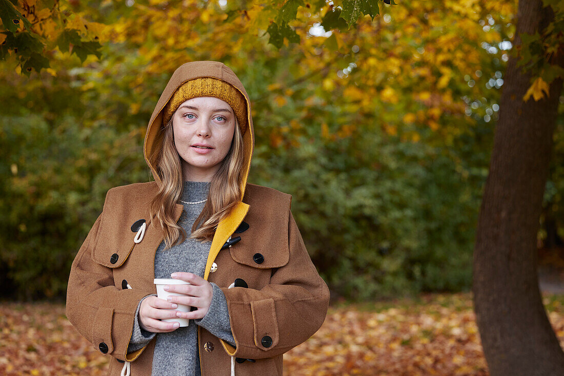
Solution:
M 564 295 L 544 294 L 564 347 Z M 64 316 L 64 304 L 0 306 L 0 374 L 105 375 L 108 359 Z M 285 375 L 487 375 L 472 295 L 329 307 L 321 329 L 284 355 Z

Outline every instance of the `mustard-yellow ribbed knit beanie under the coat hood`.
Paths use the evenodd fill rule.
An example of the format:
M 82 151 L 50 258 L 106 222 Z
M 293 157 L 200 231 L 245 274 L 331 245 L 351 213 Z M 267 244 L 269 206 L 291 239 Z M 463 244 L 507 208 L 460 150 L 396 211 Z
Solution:
M 241 134 L 245 133 L 245 97 L 230 83 L 214 77 L 194 78 L 180 85 L 174 92 L 172 98 L 170 98 L 168 103 L 166 103 L 165 108 L 162 110 L 163 125 L 166 125 L 166 123 L 170 121 L 170 118 L 173 116 L 180 104 L 188 99 L 200 96 L 213 96 L 226 101 L 233 109 L 233 112 L 235 112 L 235 116 L 239 122 L 239 128 L 241 129 Z

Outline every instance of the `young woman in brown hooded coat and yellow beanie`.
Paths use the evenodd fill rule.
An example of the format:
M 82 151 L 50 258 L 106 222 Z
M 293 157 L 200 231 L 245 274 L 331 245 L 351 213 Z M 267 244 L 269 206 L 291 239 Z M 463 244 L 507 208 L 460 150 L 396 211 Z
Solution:
M 109 189 L 70 269 L 67 317 L 111 355 L 109 375 L 281 376 L 283 353 L 323 324 L 329 289 L 291 196 L 246 181 L 253 147 L 230 68 L 175 70 L 143 146 L 155 181 Z M 190 284 L 168 301 L 153 278 Z M 161 321 L 174 317 L 190 323 Z

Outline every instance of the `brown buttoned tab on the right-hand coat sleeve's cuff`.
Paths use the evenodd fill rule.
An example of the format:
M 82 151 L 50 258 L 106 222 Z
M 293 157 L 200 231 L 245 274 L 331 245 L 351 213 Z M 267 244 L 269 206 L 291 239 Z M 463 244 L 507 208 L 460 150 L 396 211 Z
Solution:
M 250 302 L 253 312 L 254 344 L 261 350 L 269 350 L 278 343 L 278 320 L 274 299 L 253 300 Z

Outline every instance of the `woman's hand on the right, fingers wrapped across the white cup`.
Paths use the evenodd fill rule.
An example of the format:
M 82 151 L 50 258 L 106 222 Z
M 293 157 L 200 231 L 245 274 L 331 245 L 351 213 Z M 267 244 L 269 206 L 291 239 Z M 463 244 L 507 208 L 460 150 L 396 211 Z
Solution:
M 190 285 L 166 285 L 164 289 L 169 293 L 179 293 L 187 295 L 168 297 L 169 302 L 186 304 L 187 306 L 196 307 L 196 311 L 180 312 L 177 311 L 176 317 L 183 319 L 201 319 L 208 313 L 213 296 L 213 287 L 210 282 L 194 273 L 177 272 L 170 275 L 174 279 L 190 282 Z

